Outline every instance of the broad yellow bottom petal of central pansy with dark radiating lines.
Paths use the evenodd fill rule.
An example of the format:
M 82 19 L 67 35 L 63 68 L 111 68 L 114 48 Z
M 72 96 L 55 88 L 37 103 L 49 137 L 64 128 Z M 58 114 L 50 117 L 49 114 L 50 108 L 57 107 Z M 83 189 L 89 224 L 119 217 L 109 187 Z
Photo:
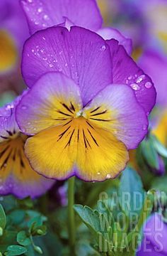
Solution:
M 27 140 L 25 152 L 40 174 L 64 179 L 76 174 L 86 181 L 113 178 L 125 168 L 125 144 L 84 117 L 46 129 Z

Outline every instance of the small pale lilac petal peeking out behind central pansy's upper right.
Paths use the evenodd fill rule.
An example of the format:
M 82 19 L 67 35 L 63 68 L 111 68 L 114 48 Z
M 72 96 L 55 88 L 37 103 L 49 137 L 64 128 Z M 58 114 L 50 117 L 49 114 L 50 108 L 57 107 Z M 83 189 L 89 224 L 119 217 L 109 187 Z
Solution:
M 125 38 L 120 31 L 115 28 L 100 28 L 96 31 L 98 35 L 102 36 L 105 40 L 115 39 L 120 45 L 124 46 L 129 55 L 132 53 L 132 40 Z

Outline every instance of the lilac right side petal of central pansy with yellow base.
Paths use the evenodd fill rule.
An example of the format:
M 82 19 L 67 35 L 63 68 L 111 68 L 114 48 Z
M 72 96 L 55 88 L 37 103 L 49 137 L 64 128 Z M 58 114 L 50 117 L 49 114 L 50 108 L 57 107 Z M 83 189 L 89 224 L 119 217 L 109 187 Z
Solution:
M 127 85 L 109 85 L 105 87 L 86 107 L 98 112 L 91 115 L 91 122 L 113 132 L 127 149 L 137 148 L 147 133 L 148 120 L 139 105 L 133 90 Z M 105 119 L 106 122 L 100 120 Z

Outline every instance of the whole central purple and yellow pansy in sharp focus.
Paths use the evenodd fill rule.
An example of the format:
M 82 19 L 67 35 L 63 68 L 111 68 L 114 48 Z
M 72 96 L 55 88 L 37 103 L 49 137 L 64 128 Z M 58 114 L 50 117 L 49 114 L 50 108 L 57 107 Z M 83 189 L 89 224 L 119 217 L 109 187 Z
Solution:
M 16 119 L 31 135 L 33 169 L 57 179 L 117 176 L 147 132 L 156 97 L 125 49 L 85 28 L 47 28 L 25 43 L 22 71 L 30 90 Z

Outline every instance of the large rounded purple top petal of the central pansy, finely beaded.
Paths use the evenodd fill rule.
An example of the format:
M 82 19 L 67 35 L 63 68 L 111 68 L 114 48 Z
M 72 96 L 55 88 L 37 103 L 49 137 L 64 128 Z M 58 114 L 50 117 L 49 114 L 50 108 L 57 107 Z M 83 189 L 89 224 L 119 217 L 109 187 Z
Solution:
M 79 85 L 85 105 L 112 82 L 110 49 L 103 38 L 85 28 L 47 28 L 25 43 L 22 71 L 29 87 L 44 73 L 64 73 Z

